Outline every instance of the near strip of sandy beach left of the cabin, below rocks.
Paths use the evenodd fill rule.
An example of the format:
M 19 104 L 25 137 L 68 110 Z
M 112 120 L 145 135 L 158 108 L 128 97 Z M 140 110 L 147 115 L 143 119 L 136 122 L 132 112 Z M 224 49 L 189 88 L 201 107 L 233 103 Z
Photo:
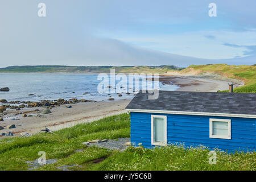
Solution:
M 46 126 L 52 130 L 60 130 L 67 127 L 72 127 L 77 124 L 93 122 L 101 118 L 108 117 L 110 115 L 125 113 L 125 107 L 129 104 L 130 100 L 119 100 L 111 102 L 80 102 L 77 104 L 65 104 L 59 107 L 53 107 L 50 114 L 41 114 L 46 107 L 28 107 L 19 111 L 7 111 L 9 119 L 3 118 L 4 121 L 0 122 L 0 125 L 5 129 L 0 130 L 0 134 L 12 132 L 15 136 L 19 136 L 20 133 L 35 134 Z M 67 106 L 72 106 L 67 108 Z M 38 109 L 38 111 L 35 111 Z M 15 115 L 17 113 L 22 114 Z M 32 115 L 31 117 L 22 117 L 23 113 Z M 11 118 L 14 118 L 12 120 Z M 40 115 L 40 117 L 39 117 Z M 15 125 L 14 129 L 7 129 L 8 125 Z M 3 138 L 3 137 L 1 137 Z

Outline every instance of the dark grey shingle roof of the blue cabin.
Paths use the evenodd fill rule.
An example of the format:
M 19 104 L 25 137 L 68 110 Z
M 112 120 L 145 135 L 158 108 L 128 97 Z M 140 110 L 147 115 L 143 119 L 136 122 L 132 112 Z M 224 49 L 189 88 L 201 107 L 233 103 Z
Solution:
M 138 93 L 126 109 L 256 115 L 256 93 L 177 92 L 159 90 L 156 100 Z

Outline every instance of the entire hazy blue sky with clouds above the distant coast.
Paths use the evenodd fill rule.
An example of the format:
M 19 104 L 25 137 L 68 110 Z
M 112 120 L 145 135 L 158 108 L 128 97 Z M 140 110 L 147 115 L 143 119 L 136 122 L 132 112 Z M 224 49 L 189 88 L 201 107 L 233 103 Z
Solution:
M 252 65 L 255 12 L 255 0 L 1 0 L 0 67 Z

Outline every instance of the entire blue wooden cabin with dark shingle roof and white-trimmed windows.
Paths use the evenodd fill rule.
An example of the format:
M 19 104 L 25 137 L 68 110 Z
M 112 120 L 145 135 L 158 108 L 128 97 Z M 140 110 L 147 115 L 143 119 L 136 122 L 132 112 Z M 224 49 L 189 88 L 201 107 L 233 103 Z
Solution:
M 156 100 L 138 93 L 127 105 L 131 143 L 151 148 L 169 143 L 255 151 L 256 93 L 172 92 Z

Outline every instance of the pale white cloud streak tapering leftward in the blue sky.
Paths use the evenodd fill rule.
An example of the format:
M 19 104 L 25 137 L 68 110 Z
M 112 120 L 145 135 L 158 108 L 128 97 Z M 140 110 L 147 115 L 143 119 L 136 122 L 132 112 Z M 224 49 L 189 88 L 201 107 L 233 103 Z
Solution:
M 206 37 L 208 36 L 208 37 Z M 209 36 L 214 39 L 209 39 Z M 255 46 L 256 31 L 197 31 L 182 34 L 116 37 L 136 46 L 202 59 L 232 59 L 245 56 Z M 240 44 L 240 47 L 226 46 Z

